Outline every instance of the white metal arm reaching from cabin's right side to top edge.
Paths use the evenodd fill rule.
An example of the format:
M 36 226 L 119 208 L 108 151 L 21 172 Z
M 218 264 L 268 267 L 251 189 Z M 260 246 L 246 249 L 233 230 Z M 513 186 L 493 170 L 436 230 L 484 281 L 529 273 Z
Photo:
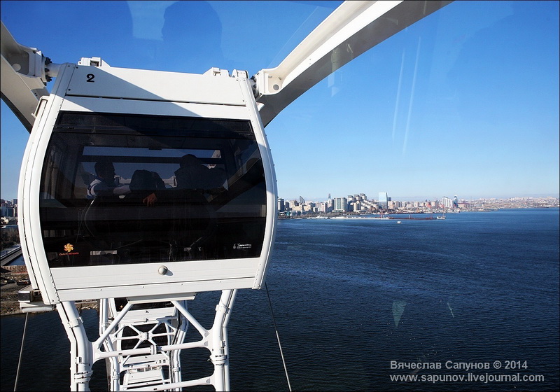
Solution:
M 276 68 L 255 78 L 255 97 L 267 125 L 330 73 L 451 1 L 344 1 Z

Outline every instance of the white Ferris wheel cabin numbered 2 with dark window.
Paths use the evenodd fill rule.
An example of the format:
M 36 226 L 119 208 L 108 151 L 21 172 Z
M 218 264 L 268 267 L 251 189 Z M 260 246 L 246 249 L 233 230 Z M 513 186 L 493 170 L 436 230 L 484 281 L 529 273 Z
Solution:
M 20 230 L 45 303 L 260 288 L 276 181 L 245 72 L 63 64 L 35 116 Z

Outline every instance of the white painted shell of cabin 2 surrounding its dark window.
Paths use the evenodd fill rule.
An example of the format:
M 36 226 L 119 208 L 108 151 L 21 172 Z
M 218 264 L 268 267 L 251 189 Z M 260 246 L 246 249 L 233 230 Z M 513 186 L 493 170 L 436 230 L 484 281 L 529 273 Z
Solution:
M 94 75 L 95 83 L 87 83 L 87 75 L 90 74 Z M 137 80 L 137 85 L 133 85 L 134 80 Z M 164 88 L 169 85 L 174 86 L 172 90 Z M 177 102 L 181 98 L 181 90 L 186 93 L 183 102 Z M 197 91 L 201 91 L 199 98 Z M 98 94 L 104 97 L 98 97 Z M 114 99 L 118 94 L 122 99 Z M 138 99 L 127 99 L 132 97 Z M 152 264 L 50 269 L 41 237 L 38 205 L 41 190 L 38 184 L 50 134 L 61 110 L 250 120 L 267 176 L 267 211 L 262 211 L 262 215 L 267 216 L 267 228 L 260 257 L 174 262 L 167 265 L 169 273 L 165 275 L 158 273 L 160 265 Z M 34 279 L 43 293 L 45 303 L 146 295 L 148 287 L 151 295 L 158 296 L 261 287 L 274 240 L 276 179 L 246 73 L 236 72 L 230 77 L 223 72 L 216 76 L 214 73 L 194 75 L 64 64 L 48 103 L 31 133 L 28 149 L 20 176 L 20 199 L 23 200 L 20 202 L 21 238 L 27 239 L 27 245 L 33 244 L 25 246 L 24 252 L 27 254 L 26 260 L 31 260 L 28 263 L 32 264 L 29 270 L 36 275 Z

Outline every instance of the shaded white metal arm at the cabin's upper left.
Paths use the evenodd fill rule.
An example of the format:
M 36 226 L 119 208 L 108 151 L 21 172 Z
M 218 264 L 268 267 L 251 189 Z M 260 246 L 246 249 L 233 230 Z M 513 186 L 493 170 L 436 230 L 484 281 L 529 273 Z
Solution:
M 2 99 L 31 132 L 38 99 L 48 95 L 45 62 L 49 60 L 36 48 L 17 43 L 3 22 L 0 49 Z

